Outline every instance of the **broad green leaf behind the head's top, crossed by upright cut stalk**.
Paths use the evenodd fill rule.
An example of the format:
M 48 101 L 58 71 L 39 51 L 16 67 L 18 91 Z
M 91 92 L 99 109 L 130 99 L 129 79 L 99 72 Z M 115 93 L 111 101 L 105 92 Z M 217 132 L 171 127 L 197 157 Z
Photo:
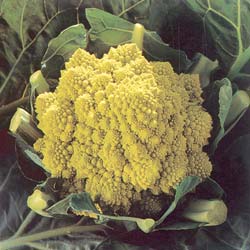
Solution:
M 111 46 L 131 42 L 133 23 L 95 8 L 86 9 L 86 17 L 91 26 L 92 46 L 98 46 L 97 50 L 92 49 L 99 55 Z M 143 52 L 148 60 L 169 61 L 177 72 L 185 71 L 190 64 L 183 51 L 169 47 L 156 32 L 145 31 Z

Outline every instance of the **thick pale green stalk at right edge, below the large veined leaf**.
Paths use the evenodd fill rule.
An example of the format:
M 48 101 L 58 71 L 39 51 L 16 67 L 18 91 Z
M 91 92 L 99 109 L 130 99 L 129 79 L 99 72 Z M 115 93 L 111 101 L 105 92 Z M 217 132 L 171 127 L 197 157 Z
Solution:
M 237 57 L 237 59 L 231 66 L 227 77 L 232 81 L 249 60 L 250 60 L 250 46 Z

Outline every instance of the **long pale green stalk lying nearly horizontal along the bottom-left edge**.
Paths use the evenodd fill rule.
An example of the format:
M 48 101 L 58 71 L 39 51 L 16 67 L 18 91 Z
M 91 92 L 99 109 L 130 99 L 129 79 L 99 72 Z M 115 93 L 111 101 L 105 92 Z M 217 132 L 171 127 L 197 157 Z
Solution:
M 29 244 L 30 242 L 39 241 L 43 239 L 48 239 L 52 237 L 67 235 L 70 233 L 80 233 L 80 232 L 94 232 L 94 231 L 104 231 L 105 226 L 103 225 L 93 225 L 93 226 L 67 226 L 57 229 L 52 229 L 44 231 L 41 233 L 35 233 L 28 236 L 21 236 L 18 238 L 10 238 L 4 241 L 0 241 L 0 249 L 7 250 L 13 247 L 20 247 Z

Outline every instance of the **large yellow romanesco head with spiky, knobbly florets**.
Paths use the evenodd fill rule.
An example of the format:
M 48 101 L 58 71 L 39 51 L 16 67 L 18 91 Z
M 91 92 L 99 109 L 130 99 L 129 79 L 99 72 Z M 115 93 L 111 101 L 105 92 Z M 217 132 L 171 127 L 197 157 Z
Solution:
M 80 180 L 78 191 L 129 213 L 145 192 L 173 195 L 186 176 L 210 175 L 201 93 L 198 75 L 149 62 L 135 44 L 101 59 L 78 49 L 56 90 L 36 99 L 44 136 L 34 148 L 52 177 Z

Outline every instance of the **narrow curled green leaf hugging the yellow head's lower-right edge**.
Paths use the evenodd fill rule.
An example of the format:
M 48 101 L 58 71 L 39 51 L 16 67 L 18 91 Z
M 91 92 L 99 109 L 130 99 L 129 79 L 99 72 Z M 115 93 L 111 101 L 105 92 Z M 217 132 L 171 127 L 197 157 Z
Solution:
M 156 222 L 156 226 L 160 225 L 176 208 L 178 202 L 187 193 L 194 190 L 194 188 L 201 183 L 201 179 L 197 176 L 186 177 L 176 188 L 176 193 L 174 200 L 167 211 L 161 216 L 161 218 Z

